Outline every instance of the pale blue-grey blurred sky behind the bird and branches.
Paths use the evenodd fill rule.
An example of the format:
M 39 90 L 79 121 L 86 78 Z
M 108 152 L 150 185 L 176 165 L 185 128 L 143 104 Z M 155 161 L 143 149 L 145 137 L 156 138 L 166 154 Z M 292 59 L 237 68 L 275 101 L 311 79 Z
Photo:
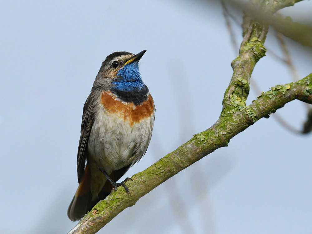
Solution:
M 209 128 L 241 42 L 242 13 L 219 1 L 2 1 L 0 10 L 0 229 L 67 233 L 78 186 L 82 108 L 105 57 L 147 52 L 140 71 L 156 105 L 146 155 L 124 176 Z M 280 11 L 312 22 L 312 2 Z M 226 20 L 230 26 L 226 26 Z M 232 39 L 229 34 L 232 29 Z M 311 48 L 270 28 L 247 105 L 312 72 Z M 281 59 L 282 58 L 282 59 Z M 294 70 L 295 69 L 295 70 Z M 258 88 L 258 90 L 257 90 Z M 312 233 L 307 106 L 292 101 L 142 197 L 99 233 Z M 293 129 L 295 130 L 293 130 Z M 296 130 L 297 129 L 297 130 Z

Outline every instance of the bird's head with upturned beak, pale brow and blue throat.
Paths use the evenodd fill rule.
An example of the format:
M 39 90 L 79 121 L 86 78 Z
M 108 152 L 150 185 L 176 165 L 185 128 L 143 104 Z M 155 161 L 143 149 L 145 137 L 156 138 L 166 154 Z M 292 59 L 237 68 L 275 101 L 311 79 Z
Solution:
M 129 52 L 110 54 L 102 63 L 95 83 L 120 92 L 137 92 L 147 88 L 139 71 L 139 60 L 145 52 L 136 55 Z

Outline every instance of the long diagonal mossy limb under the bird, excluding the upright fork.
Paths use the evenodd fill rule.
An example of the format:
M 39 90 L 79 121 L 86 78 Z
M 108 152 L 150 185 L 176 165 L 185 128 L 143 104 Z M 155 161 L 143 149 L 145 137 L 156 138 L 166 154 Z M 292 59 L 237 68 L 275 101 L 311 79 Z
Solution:
M 96 233 L 125 208 L 133 206 L 140 197 L 149 193 L 179 171 L 197 162 L 220 147 L 227 146 L 230 139 L 244 131 L 257 120 L 268 118 L 271 113 L 292 100 L 312 104 L 312 73 L 304 79 L 285 85 L 276 85 L 241 110 L 225 113 L 209 129 L 195 134 L 185 144 L 144 171 L 134 174 L 133 181 L 126 182 L 131 195 L 123 187 L 100 201 L 85 215 L 70 233 Z M 231 114 L 229 116 L 229 114 Z

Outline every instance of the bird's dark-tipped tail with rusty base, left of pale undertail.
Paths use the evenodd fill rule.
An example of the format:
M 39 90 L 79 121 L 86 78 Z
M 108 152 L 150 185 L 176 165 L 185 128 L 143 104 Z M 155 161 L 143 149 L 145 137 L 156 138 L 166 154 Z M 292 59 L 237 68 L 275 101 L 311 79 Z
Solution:
M 67 215 L 71 221 L 80 220 L 98 201 L 92 201 L 90 189 L 91 172 L 89 165 L 85 167 L 85 174 L 80 182 L 75 196 L 68 207 Z

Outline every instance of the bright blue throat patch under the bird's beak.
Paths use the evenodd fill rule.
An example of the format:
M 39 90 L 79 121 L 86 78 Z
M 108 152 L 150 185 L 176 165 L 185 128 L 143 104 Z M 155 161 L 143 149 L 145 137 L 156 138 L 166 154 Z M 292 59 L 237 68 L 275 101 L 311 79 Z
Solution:
M 126 64 L 119 69 L 117 79 L 113 82 L 114 88 L 123 92 L 140 91 L 144 85 L 139 71 L 139 63 L 137 61 Z

